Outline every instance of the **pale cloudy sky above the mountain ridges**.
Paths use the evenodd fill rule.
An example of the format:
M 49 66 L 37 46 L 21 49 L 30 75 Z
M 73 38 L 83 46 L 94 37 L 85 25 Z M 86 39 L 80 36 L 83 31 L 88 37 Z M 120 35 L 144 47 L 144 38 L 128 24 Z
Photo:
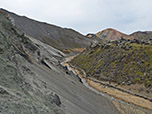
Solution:
M 152 31 L 152 0 L 0 0 L 0 7 L 83 34 Z

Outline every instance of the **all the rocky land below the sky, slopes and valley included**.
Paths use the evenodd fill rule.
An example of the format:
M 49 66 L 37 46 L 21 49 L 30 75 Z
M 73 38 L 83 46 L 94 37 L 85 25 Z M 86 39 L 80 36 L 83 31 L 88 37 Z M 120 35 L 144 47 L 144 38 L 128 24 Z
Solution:
M 83 36 L 0 9 L 0 114 L 150 114 L 151 41 L 150 31 Z

